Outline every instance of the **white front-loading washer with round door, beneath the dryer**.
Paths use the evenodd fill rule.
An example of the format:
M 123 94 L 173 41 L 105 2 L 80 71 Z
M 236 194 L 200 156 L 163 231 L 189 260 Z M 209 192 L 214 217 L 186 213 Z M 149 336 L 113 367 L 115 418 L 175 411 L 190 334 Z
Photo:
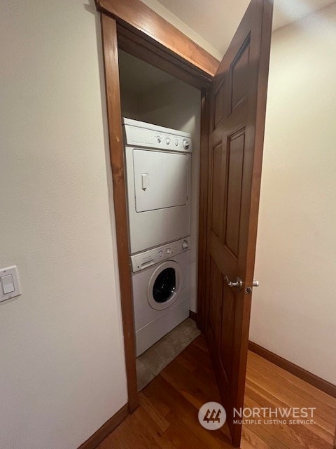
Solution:
M 190 238 L 131 256 L 137 356 L 189 316 Z

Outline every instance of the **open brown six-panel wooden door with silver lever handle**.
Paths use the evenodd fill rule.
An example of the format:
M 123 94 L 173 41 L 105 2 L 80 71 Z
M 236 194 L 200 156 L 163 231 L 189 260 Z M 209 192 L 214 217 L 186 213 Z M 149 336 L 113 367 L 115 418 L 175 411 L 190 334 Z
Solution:
M 252 0 L 209 91 L 205 331 L 235 447 L 241 425 L 233 409 L 244 406 L 271 29 L 272 1 Z M 237 278 L 241 286 L 229 286 Z

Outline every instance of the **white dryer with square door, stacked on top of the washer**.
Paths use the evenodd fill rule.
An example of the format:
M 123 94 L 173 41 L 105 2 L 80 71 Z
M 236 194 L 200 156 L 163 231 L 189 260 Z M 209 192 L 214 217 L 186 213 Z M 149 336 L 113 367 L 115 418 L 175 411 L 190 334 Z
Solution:
M 130 253 L 190 236 L 190 134 L 123 119 Z

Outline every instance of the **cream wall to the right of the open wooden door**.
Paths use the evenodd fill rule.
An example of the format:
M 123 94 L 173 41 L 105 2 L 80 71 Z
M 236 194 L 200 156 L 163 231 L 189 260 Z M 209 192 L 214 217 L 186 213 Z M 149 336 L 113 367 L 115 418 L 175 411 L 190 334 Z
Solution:
M 336 5 L 274 32 L 251 340 L 336 384 Z

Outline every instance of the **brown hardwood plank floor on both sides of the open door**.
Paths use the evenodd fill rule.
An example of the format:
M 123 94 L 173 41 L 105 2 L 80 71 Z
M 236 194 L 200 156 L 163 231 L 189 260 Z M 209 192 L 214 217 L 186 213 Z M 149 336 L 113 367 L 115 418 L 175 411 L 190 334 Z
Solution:
M 201 335 L 139 394 L 140 406 L 99 449 L 226 449 L 228 428 L 207 431 L 200 406 L 219 401 L 209 353 Z M 246 407 L 316 407 L 315 424 L 244 424 L 242 449 L 332 449 L 336 399 L 248 354 Z M 270 419 L 274 420 L 274 417 Z

